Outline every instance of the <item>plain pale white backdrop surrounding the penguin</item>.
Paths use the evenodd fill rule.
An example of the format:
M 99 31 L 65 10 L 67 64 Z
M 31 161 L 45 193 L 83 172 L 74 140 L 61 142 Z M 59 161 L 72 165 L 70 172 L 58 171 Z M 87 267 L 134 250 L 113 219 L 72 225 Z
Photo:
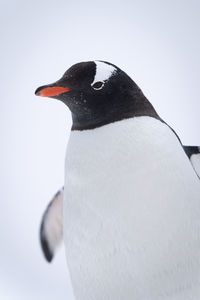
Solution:
M 184 144 L 200 145 L 200 2 L 0 2 L 0 299 L 73 299 L 64 250 L 52 264 L 41 215 L 63 184 L 71 118 L 34 96 L 80 61 L 126 71 Z

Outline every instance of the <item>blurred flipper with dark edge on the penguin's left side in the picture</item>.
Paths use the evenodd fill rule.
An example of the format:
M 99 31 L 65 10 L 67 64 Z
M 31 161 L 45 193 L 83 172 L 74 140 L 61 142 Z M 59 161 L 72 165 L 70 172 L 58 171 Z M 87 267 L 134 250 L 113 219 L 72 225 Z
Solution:
M 48 204 L 40 225 L 40 243 L 43 254 L 51 262 L 63 239 L 63 192 L 59 190 Z

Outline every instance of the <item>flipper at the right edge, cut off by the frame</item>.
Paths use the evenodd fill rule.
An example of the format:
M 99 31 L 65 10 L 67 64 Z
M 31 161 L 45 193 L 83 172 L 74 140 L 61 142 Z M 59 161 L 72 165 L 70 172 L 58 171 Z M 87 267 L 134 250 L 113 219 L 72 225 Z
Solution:
M 200 178 L 200 147 L 198 146 L 183 146 L 185 153 L 193 166 L 193 169 Z

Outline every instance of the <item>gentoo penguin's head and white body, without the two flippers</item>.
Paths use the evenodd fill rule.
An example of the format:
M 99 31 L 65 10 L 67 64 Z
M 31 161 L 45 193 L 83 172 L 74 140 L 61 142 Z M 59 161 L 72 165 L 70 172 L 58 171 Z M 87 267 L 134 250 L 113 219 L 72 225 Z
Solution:
M 200 297 L 200 182 L 135 82 L 103 61 L 36 95 L 72 113 L 64 242 L 77 300 Z

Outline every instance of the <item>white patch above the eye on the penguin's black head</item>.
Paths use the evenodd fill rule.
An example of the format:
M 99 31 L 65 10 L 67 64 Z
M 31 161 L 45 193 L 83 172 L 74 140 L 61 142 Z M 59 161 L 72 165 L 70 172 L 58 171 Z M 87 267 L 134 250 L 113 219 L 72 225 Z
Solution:
M 98 81 L 105 82 L 117 71 L 115 67 L 107 63 L 101 61 L 94 61 L 94 63 L 96 64 L 96 74 L 91 85 Z

